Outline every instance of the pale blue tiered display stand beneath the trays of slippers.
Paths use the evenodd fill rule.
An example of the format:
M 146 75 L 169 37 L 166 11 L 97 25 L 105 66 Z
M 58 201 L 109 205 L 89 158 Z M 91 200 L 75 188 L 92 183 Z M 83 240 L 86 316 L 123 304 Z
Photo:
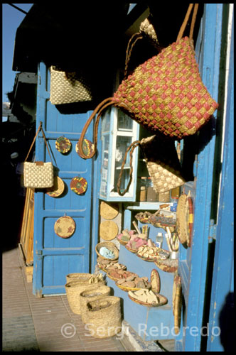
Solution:
M 142 224 L 139 224 L 139 229 Z M 165 231 L 160 228 L 150 226 L 149 236 L 153 241 L 159 231 L 163 234 Z M 163 240 L 163 249 L 168 249 L 166 240 Z M 150 280 L 151 271 L 156 269 L 161 278 L 161 295 L 168 299 L 166 305 L 160 307 L 146 307 L 139 305 L 129 299 L 128 293 L 119 289 L 115 282 L 107 277 L 107 285 L 114 290 L 114 295 L 122 300 L 124 310 L 124 320 L 128 322 L 136 331 L 141 339 L 153 341 L 159 339 L 173 339 L 174 323 L 172 311 L 172 292 L 174 273 L 168 273 L 158 268 L 155 263 L 147 262 L 138 258 L 136 254 L 128 251 L 125 246 L 120 245 L 119 263 L 127 266 L 128 271 L 137 273 L 140 277 L 147 276 Z M 171 332 L 172 331 L 172 332 Z

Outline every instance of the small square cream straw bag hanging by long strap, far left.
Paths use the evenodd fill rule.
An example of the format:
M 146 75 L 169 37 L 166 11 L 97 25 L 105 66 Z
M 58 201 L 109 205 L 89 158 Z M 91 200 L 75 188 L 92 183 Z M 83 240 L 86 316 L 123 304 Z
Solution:
M 44 163 L 43 161 L 35 161 L 33 163 L 30 163 L 26 161 L 28 159 L 29 153 L 31 152 L 31 149 L 33 148 L 33 144 L 36 141 L 36 137 L 38 136 L 39 131 L 42 131 L 43 133 L 43 140 L 48 150 L 50 160 L 52 160 L 48 148 L 48 143 L 45 138 L 45 133 L 42 128 L 42 122 L 40 122 L 38 131 L 36 132 L 36 136 L 33 138 L 31 148 L 29 148 L 28 154 L 23 163 L 23 185 L 25 187 L 35 187 L 37 189 L 42 189 L 47 187 L 53 187 L 53 183 L 54 183 L 53 160 L 48 163 Z

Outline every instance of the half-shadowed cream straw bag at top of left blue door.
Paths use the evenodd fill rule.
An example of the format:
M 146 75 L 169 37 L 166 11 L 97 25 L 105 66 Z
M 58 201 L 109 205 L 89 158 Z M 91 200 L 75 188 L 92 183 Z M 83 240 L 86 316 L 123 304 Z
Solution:
M 65 72 L 55 66 L 50 67 L 50 102 L 53 105 L 91 100 L 91 85 L 85 75 Z

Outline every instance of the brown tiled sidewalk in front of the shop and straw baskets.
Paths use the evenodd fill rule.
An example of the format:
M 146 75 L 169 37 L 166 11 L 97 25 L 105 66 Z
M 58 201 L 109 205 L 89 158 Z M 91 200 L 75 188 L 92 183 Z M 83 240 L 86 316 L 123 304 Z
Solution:
M 35 297 L 18 247 L 5 251 L 2 263 L 3 351 L 134 351 L 127 339 L 88 335 L 66 295 Z

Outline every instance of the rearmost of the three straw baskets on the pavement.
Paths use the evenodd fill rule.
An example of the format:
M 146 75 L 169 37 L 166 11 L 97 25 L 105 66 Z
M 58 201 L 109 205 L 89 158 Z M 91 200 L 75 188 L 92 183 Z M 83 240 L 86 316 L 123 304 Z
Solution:
M 96 283 L 96 285 L 105 285 L 104 280 Z M 68 297 L 70 309 L 80 315 L 80 293 L 95 287 L 95 283 L 88 283 L 88 280 L 75 280 L 65 284 L 65 292 Z

